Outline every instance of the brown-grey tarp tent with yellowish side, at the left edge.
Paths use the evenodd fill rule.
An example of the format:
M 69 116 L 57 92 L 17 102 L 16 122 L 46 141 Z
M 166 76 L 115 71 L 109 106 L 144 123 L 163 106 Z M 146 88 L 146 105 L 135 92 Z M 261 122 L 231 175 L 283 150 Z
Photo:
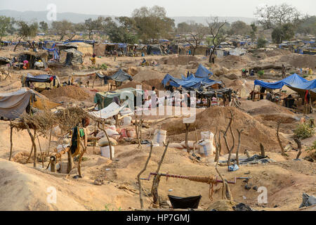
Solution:
M 22 88 L 18 91 L 0 94 L 0 117 L 14 120 L 27 110 L 29 106 L 39 108 L 55 108 L 58 103 L 53 103 L 32 89 Z

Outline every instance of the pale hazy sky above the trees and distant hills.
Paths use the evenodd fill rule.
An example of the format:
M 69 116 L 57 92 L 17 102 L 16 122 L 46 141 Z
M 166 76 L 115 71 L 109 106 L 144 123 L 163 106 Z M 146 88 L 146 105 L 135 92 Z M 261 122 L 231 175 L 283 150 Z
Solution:
M 127 15 L 141 6 L 163 6 L 168 16 L 242 16 L 254 17 L 256 6 L 287 3 L 301 13 L 316 14 L 316 0 L 0 0 L 0 9 L 46 11 L 55 4 L 58 13 Z

